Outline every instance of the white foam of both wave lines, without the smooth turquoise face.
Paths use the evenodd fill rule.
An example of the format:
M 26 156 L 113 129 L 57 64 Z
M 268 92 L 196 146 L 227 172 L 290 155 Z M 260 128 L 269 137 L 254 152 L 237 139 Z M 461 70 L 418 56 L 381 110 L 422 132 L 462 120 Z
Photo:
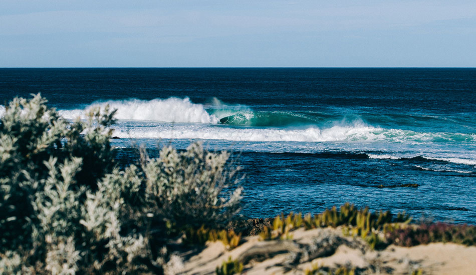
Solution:
M 89 109 L 106 105 L 115 109 L 115 118 L 119 120 L 115 127 L 115 135 L 121 138 L 176 138 L 176 139 L 225 139 L 234 141 L 357 141 L 357 140 L 385 140 L 389 142 L 424 142 L 424 141 L 476 141 L 474 133 L 451 133 L 451 132 L 416 132 L 402 129 L 385 129 L 365 123 L 360 117 L 352 121 L 331 119 L 327 122 L 331 126 L 319 127 L 315 124 L 325 124 L 315 119 L 315 123 L 309 120 L 308 124 L 302 123 L 298 114 L 283 114 L 288 118 L 295 116 L 297 123 L 288 127 L 266 127 L 256 119 L 255 112 L 249 107 L 246 112 L 233 109 L 220 101 L 220 105 L 205 106 L 192 103 L 188 97 L 152 100 L 108 100 L 97 102 L 82 109 L 59 110 L 62 117 L 73 120 L 85 118 Z M 206 108 L 210 108 L 209 112 Z M 2 112 L 0 106 L 0 114 Z M 259 112 L 258 112 L 259 113 Z M 218 117 L 217 115 L 220 114 Z M 243 118 L 238 122 L 222 123 L 223 118 L 241 114 Z M 260 115 L 264 121 L 269 121 L 270 116 L 279 120 L 279 114 Z M 254 119 L 255 126 L 249 122 Z M 227 122 L 227 120 L 225 120 Z M 273 126 L 273 121 L 269 121 Z M 231 124 L 232 127 L 226 127 Z M 211 127 L 216 125 L 217 127 Z M 222 125 L 219 127 L 218 125 Z M 244 127 L 237 127 L 244 126 Z

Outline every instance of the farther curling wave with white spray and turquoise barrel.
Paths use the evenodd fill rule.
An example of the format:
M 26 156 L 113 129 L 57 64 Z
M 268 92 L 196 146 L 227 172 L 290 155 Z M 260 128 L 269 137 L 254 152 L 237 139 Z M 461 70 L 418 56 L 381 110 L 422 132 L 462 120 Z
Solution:
M 188 97 L 167 99 L 109 100 L 93 103 L 83 109 L 60 110 L 67 119 L 85 117 L 91 107 L 109 105 L 117 109 L 115 117 L 121 120 L 163 122 L 220 123 L 235 126 L 281 127 L 316 124 L 325 117 L 286 111 L 253 111 L 244 105 L 226 105 L 215 98 L 211 105 L 197 104 Z M 209 108 L 207 108 L 209 107 Z

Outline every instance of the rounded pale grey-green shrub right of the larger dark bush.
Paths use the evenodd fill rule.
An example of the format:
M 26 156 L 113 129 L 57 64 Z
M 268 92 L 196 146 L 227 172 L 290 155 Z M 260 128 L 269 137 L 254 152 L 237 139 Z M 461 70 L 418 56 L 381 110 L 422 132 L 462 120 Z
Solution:
M 183 152 L 164 146 L 152 159 L 142 150 L 149 211 L 163 217 L 169 228 L 224 226 L 240 211 L 242 198 L 242 187 L 232 188 L 240 180 L 239 167 L 226 170 L 228 157 L 227 152 L 205 151 L 201 143 Z

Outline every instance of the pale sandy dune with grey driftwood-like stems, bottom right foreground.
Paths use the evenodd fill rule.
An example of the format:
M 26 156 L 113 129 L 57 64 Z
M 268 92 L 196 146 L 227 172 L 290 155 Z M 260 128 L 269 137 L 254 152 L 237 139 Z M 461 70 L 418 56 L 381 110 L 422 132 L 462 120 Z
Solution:
M 390 245 L 372 250 L 360 238 L 344 236 L 340 229 L 318 228 L 293 231 L 289 240 L 263 241 L 250 236 L 226 250 L 217 241 L 194 255 L 180 255 L 183 265 L 167 273 L 214 274 L 229 257 L 244 263 L 244 274 L 304 274 L 312 266 L 336 268 L 347 265 L 360 274 L 476 274 L 476 247 L 454 243 L 431 243 L 413 247 Z M 174 272 L 172 272 L 174 271 Z

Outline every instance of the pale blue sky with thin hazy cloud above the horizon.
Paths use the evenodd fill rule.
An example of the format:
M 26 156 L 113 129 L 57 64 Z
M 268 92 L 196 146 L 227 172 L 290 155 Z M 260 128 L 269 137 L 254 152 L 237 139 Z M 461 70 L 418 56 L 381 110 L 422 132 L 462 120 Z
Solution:
M 0 0 L 0 67 L 475 66 L 474 0 Z

